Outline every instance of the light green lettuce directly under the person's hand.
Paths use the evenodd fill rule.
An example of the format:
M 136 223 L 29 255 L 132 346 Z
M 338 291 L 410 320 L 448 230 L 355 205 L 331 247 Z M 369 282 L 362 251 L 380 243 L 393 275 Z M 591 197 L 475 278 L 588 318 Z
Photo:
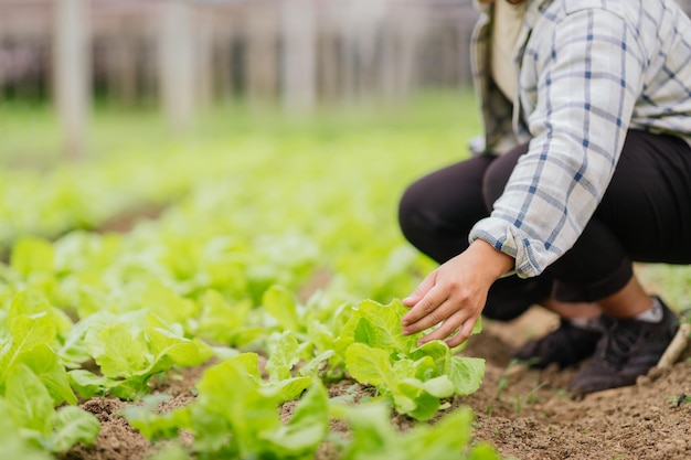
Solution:
M 360 302 L 336 341 L 336 352 L 353 378 L 376 387 L 400 414 L 427 420 L 442 408 L 442 399 L 479 388 L 485 361 L 455 355 L 442 341 L 417 346 L 421 334 L 401 331 L 407 311 L 400 300 L 387 306 Z

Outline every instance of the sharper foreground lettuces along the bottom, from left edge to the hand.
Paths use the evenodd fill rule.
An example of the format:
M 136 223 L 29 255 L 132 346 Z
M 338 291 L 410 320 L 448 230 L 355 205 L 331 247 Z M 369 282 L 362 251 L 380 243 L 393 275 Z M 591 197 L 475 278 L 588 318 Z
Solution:
M 290 302 L 280 288 L 272 288 L 267 298 L 273 298 L 267 299 L 268 309 Z M 410 343 L 413 338 L 402 340 L 394 325 L 402 309 L 395 302 L 363 301 L 344 314 L 348 320 L 339 336 L 321 324 L 315 324 L 320 330 L 313 339 L 306 334 L 307 340 L 289 330 L 270 332 L 259 339 L 264 346 L 259 354 L 214 349 L 147 311 L 125 318 L 94 313 L 71 325 L 41 295 L 20 291 L 12 299 L 7 319 L 10 339 L 0 356 L 0 406 L 9 415 L 2 421 L 0 451 L 6 458 L 40 459 L 76 442 L 93 442 L 98 420 L 75 406 L 75 394 L 82 398 L 110 394 L 143 400 L 121 415 L 152 441 L 173 440 L 159 458 L 171 458 L 174 449 L 174 458 L 193 453 L 212 459 L 311 459 L 331 445 L 338 452 L 334 458 L 342 459 L 413 459 L 424 453 L 438 459 L 497 459 L 489 446 L 470 442 L 472 415 L 466 408 L 405 435 L 391 425 L 392 406 L 415 419 L 429 419 L 448 406 L 444 399 L 475 392 L 483 371 L 479 360 L 455 356 L 443 343 L 416 347 Z M 332 347 L 321 351 L 316 342 L 330 342 Z M 203 374 L 198 397 L 183 408 L 158 413 L 166 396 L 145 396 L 147 381 L 211 356 L 219 364 Z M 261 356 L 267 356 L 263 365 Z M 81 366 L 85 360 L 94 360 L 102 374 Z M 330 398 L 328 384 L 342 372 L 373 385 L 379 396 L 357 405 Z M 294 400 L 298 403 L 289 420 L 281 420 L 277 407 Z M 331 419 L 344 420 L 350 436 L 331 436 Z M 180 430 L 192 434 L 191 447 Z

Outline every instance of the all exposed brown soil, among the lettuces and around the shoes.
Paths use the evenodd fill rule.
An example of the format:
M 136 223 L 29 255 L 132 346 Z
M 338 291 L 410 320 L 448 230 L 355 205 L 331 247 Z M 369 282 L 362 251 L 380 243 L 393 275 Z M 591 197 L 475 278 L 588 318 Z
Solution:
M 511 350 L 556 325 L 556 318 L 532 309 L 511 323 L 486 321 L 485 331 L 471 338 L 464 354 L 487 361 L 485 382 L 474 395 L 457 397 L 455 407 L 470 406 L 476 415 L 475 438 L 488 441 L 504 458 L 521 460 L 677 460 L 691 458 L 691 362 L 687 352 L 666 371 L 653 370 L 634 386 L 609 389 L 574 400 L 565 392 L 576 370 L 544 371 L 509 366 Z M 194 398 L 193 387 L 202 368 L 183 370 L 176 378 L 153 383 L 153 391 L 172 396 L 167 409 L 183 406 Z M 343 381 L 330 388 L 332 396 L 353 394 L 353 382 Z M 371 388 L 355 386 L 358 395 Z M 116 398 L 95 398 L 82 404 L 102 422 L 93 446 L 76 446 L 61 456 L 68 460 L 140 460 L 155 449 L 117 410 L 128 403 Z M 288 418 L 293 404 L 281 408 Z M 412 426 L 406 417 L 393 417 L 401 429 Z M 343 424 L 332 431 L 346 434 Z M 333 449 L 325 445 L 318 460 L 334 460 Z M 433 460 L 433 459 L 432 459 Z

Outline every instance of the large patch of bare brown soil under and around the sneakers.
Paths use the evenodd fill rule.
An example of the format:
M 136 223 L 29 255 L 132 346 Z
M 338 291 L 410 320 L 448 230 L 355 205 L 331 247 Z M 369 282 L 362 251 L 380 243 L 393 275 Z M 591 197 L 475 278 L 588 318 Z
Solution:
M 564 388 L 576 370 L 508 367 L 525 331 L 542 333 L 556 323 L 534 309 L 514 323 L 487 324 L 472 338 L 465 352 L 486 357 L 485 382 L 456 404 L 474 408 L 476 438 L 518 459 L 690 459 L 691 403 L 683 400 L 691 394 L 688 352 L 671 368 L 653 368 L 634 386 L 574 400 Z

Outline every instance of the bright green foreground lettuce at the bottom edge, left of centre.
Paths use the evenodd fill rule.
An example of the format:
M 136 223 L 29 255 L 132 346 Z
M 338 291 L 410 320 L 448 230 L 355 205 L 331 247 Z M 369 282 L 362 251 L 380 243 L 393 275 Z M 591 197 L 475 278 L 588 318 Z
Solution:
M 132 406 L 124 414 L 149 439 L 190 431 L 203 458 L 312 459 L 329 430 L 327 391 L 316 379 L 279 382 L 264 382 L 258 356 L 244 353 L 209 368 L 190 405 L 168 414 Z M 278 406 L 300 394 L 290 419 L 281 421 Z

